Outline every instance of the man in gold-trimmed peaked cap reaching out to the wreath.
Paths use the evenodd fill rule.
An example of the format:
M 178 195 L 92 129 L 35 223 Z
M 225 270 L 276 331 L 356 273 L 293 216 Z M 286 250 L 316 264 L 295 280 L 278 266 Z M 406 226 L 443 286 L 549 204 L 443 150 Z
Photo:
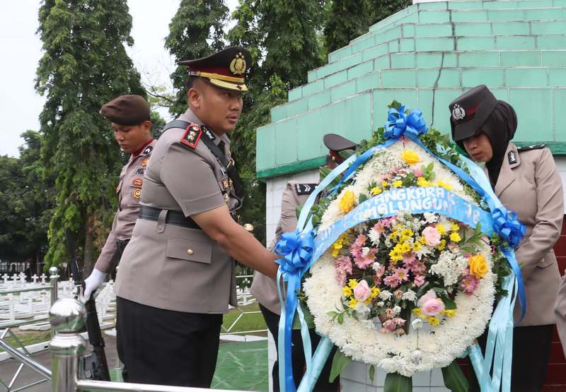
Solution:
M 276 256 L 233 219 L 242 184 L 230 139 L 250 54 L 229 47 L 188 67 L 184 114 L 165 126 L 117 273 L 117 345 L 127 381 L 208 388 L 222 315 L 236 301 L 234 259 L 268 276 Z

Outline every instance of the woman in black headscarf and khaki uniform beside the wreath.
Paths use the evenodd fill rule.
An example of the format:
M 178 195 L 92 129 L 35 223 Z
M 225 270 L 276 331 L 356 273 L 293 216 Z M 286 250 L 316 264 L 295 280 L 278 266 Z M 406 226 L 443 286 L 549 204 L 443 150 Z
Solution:
M 511 105 L 478 85 L 450 105 L 452 138 L 484 171 L 499 200 L 519 214 L 526 234 L 515 249 L 526 290 L 526 314 L 515 308 L 511 389 L 540 391 L 550 356 L 560 273 L 553 247 L 560 236 L 564 206 L 562 181 L 544 145 L 511 143 L 517 117 Z M 480 337 L 485 342 L 485 334 Z M 483 343 L 485 346 L 485 343 Z M 477 390 L 475 379 L 472 380 Z

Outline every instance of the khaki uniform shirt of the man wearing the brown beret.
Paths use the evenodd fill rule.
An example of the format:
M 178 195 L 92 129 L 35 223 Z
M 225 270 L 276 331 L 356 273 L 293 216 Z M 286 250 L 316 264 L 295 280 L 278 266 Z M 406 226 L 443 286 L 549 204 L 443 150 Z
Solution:
M 106 243 L 94 268 L 109 273 L 117 259 L 116 240 L 125 240 L 132 237 L 132 230 L 139 213 L 139 200 L 141 198 L 141 184 L 144 182 L 144 172 L 151 157 L 156 141 L 146 145 L 139 155 L 131 155 L 128 162 L 122 167 L 120 182 L 116 188 L 118 195 L 118 210 L 114 215 L 112 230 L 108 234 Z

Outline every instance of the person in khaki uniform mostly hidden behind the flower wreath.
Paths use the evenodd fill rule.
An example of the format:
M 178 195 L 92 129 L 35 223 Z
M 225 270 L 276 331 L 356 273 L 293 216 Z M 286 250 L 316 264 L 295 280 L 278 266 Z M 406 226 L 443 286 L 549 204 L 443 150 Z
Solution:
M 356 143 L 349 141 L 335 133 L 327 133 L 323 142 L 328 148 L 328 155 L 326 156 L 326 167 L 334 169 L 337 165 L 343 162 L 343 158 L 340 155 L 341 151 L 353 150 L 356 148 Z M 270 249 L 275 247 L 279 237 L 284 232 L 292 232 L 296 229 L 297 223 L 297 208 L 302 206 L 308 196 L 313 193 L 314 189 L 318 185 L 315 183 L 304 183 L 289 181 L 285 190 L 283 191 L 283 196 L 281 199 L 281 215 L 279 217 L 279 222 L 277 222 L 277 228 L 275 229 L 275 239 L 270 246 Z M 277 283 L 275 279 L 267 277 L 260 272 L 255 272 L 253 275 L 253 283 L 250 287 L 250 292 L 253 296 L 258 299 L 260 304 L 260 311 L 262 313 L 263 319 L 267 324 L 267 328 L 275 340 L 275 347 L 278 347 L 277 337 L 279 335 L 279 316 L 281 315 L 281 305 L 279 304 L 279 296 L 277 295 Z M 311 335 L 311 342 L 313 344 L 313 350 L 316 349 L 316 345 L 320 341 L 320 336 L 317 335 L 314 329 L 309 330 Z M 305 367 L 305 357 L 303 352 L 303 343 L 301 338 L 301 331 L 294 330 L 291 333 L 291 340 L 293 342 L 293 348 L 291 352 L 292 362 L 293 362 L 293 377 L 295 384 L 298 386 L 301 383 L 301 379 L 304 374 Z M 330 357 L 333 353 L 330 354 Z M 340 390 L 340 378 L 337 377 L 334 381 L 328 381 L 330 377 L 330 369 L 332 368 L 332 360 L 328 360 L 323 367 L 318 381 L 314 386 L 313 391 L 339 391 Z M 279 391 L 279 361 L 276 360 L 272 368 L 272 380 L 273 380 L 273 390 Z

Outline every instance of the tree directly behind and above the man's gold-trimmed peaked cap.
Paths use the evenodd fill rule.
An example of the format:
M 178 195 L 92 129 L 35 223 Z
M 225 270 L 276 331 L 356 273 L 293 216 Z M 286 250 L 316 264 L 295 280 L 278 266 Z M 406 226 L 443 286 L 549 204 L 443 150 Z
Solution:
M 224 25 L 228 7 L 223 0 L 181 0 L 171 23 L 165 47 L 177 61 L 199 59 L 224 48 Z M 187 67 L 178 66 L 171 74 L 175 102 L 169 112 L 177 117 L 187 110 Z

